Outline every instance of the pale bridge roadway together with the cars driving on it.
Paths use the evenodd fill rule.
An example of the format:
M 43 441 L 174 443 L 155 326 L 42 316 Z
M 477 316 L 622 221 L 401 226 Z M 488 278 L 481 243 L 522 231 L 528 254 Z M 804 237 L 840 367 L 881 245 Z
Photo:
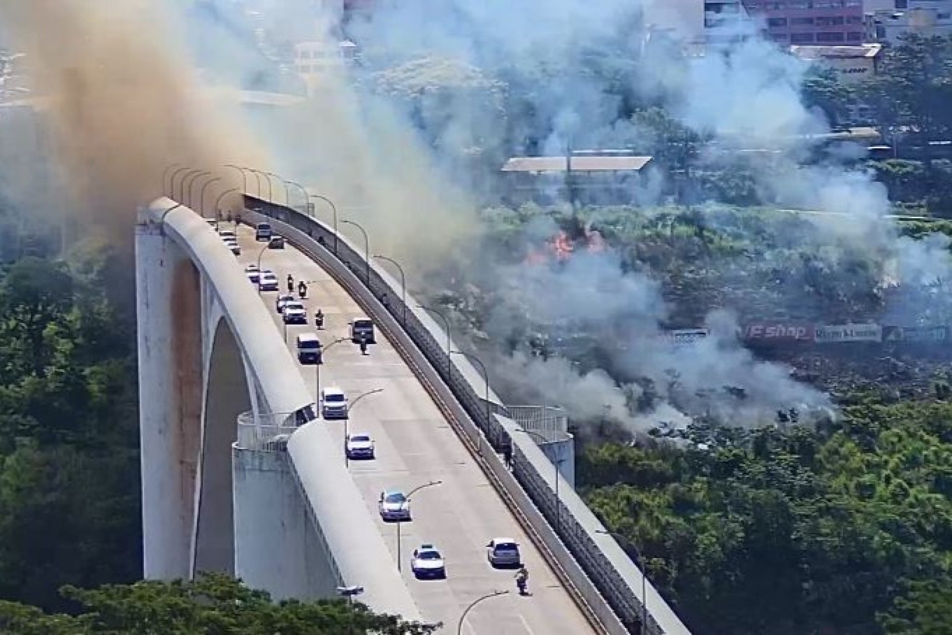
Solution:
M 222 223 L 219 230 L 226 240 L 234 231 L 236 267 L 246 270 L 249 285 L 277 280 L 277 288 L 260 289 L 262 302 L 425 621 L 455 632 L 465 615 L 461 632 L 470 635 L 592 632 L 397 350 L 380 332 L 354 332 L 366 316 L 344 288 L 287 242 L 244 226 Z M 291 297 L 281 312 L 283 295 Z M 315 337 L 316 356 L 307 353 Z M 529 572 L 526 595 L 517 590 L 519 566 L 505 563 L 505 547 L 489 546 L 509 541 Z

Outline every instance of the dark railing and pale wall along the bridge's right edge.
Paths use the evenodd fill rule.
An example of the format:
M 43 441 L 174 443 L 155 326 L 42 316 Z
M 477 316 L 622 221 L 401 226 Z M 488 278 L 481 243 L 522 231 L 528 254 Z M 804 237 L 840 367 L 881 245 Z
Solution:
M 260 213 L 271 220 L 300 231 L 303 236 L 309 237 L 326 248 L 329 258 L 334 257 L 331 251 L 331 246 L 335 244 L 334 233 L 323 223 L 291 208 L 274 205 L 253 197 L 247 196 L 246 199 L 246 208 L 251 214 L 244 214 L 243 221 L 254 222 L 256 219 L 253 213 Z M 293 237 L 288 236 L 287 233 L 286 237 L 293 242 Z M 585 506 L 585 503 L 574 489 L 570 486 L 561 487 L 559 500 L 556 501 L 554 474 L 551 473 L 553 470 L 541 467 L 551 466 L 545 454 L 528 435 L 514 433 L 514 424 L 507 426 L 503 423 L 508 420 L 495 415 L 491 418 L 486 417 L 485 401 L 480 397 L 477 387 L 472 386 L 466 380 L 464 374 L 455 364 L 447 365 L 446 350 L 437 342 L 436 336 L 420 319 L 418 312 L 421 309 L 416 308 L 416 303 L 411 302 L 409 296 L 407 296 L 407 310 L 405 313 L 400 299 L 400 289 L 395 281 L 390 279 L 388 275 L 382 274 L 372 263 L 369 268 L 369 280 L 367 280 L 367 262 L 345 236 L 338 236 L 336 248 L 336 259 L 350 270 L 351 275 L 370 291 L 370 294 L 382 307 L 387 309 L 389 317 L 400 327 L 403 327 L 409 339 L 426 357 L 434 372 L 438 374 L 451 391 L 452 396 L 466 411 L 468 419 L 485 434 L 488 443 L 497 450 L 500 450 L 506 444 L 511 445 L 513 448 L 511 475 L 508 470 L 506 470 L 505 475 L 498 472 L 499 469 L 505 469 L 505 467 L 495 455 L 486 457 L 486 463 L 490 469 L 497 472 L 496 477 L 500 479 L 503 486 L 506 486 L 506 476 L 514 477 L 515 481 L 518 482 L 517 487 L 521 491 L 510 492 L 517 504 L 527 495 L 527 502 L 530 502 L 535 510 L 545 518 L 545 527 L 540 526 L 537 522 L 533 528 L 537 536 L 549 546 L 552 555 L 559 559 L 559 547 L 562 546 L 567 549 L 567 553 L 571 554 L 572 562 L 568 562 L 564 558 L 559 559 L 560 565 L 563 566 L 566 574 L 571 575 L 573 565 L 580 566 L 581 571 L 584 571 L 585 580 L 576 576 L 573 583 L 578 586 L 577 590 L 585 597 L 589 608 L 599 615 L 603 625 L 610 632 L 618 631 L 616 628 L 610 627 L 613 620 L 608 619 L 604 611 L 599 610 L 598 605 L 603 602 L 610 606 L 611 617 L 614 618 L 616 624 L 624 623 L 630 629 L 639 623 L 643 605 L 639 597 L 640 592 L 636 593 L 634 589 L 642 588 L 643 576 L 641 570 L 631 562 L 624 549 L 618 546 L 614 538 L 601 534 L 602 531 L 605 531 L 605 527 Z M 443 334 L 442 337 L 445 338 L 446 334 Z M 496 463 L 499 466 L 496 466 Z M 520 493 L 523 496 L 520 496 Z M 522 504 L 526 505 L 525 502 Z M 557 505 L 558 512 L 556 512 Z M 526 509 L 526 512 L 527 520 L 531 523 L 531 510 Z M 559 518 L 558 536 L 554 541 L 546 541 L 546 534 L 554 531 L 552 527 L 556 525 L 555 518 L 557 515 Z M 590 589 L 586 592 L 586 583 L 587 585 L 593 585 L 593 589 L 597 589 L 594 593 L 598 597 L 595 597 Z M 652 635 L 689 633 L 686 626 L 649 582 L 645 585 L 645 594 L 647 596 L 645 605 L 648 607 L 645 632 Z M 621 623 L 618 622 L 619 620 Z

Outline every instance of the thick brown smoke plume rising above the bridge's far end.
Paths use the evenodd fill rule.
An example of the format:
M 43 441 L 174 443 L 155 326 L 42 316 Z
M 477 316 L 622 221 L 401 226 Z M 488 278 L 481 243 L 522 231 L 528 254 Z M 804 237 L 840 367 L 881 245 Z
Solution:
M 10 0 L 0 7 L 49 117 L 70 211 L 123 242 L 135 208 L 162 193 L 170 164 L 216 169 L 261 156 L 228 104 L 199 89 L 180 25 L 164 4 Z

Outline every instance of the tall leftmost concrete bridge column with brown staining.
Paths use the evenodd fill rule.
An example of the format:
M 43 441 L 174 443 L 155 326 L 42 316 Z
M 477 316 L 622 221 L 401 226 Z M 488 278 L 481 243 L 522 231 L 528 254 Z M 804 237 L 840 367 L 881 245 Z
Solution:
M 154 225 L 135 235 L 143 574 L 188 577 L 202 414 L 198 271 Z

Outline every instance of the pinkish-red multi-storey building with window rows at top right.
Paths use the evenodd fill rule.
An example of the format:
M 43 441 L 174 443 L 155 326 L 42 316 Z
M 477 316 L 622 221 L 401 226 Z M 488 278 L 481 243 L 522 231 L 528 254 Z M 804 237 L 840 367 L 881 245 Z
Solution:
M 781 45 L 860 44 L 866 39 L 863 0 L 743 0 L 768 37 Z

